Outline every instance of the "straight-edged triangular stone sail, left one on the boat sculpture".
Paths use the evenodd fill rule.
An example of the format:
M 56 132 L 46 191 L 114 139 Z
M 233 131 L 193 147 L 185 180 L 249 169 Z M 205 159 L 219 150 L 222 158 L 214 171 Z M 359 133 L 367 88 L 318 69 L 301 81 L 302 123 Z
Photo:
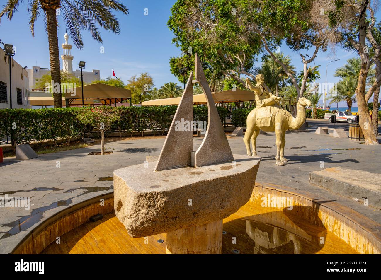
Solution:
M 189 75 L 154 171 L 191 165 L 193 150 L 193 72 Z

